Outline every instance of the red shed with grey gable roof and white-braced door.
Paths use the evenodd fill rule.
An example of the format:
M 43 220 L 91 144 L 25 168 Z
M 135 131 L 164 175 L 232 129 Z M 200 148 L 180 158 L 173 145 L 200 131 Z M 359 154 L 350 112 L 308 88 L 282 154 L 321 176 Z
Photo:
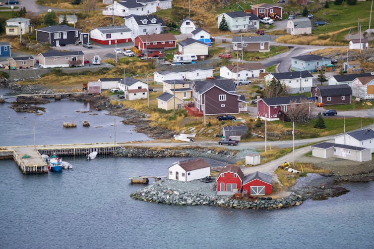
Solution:
M 268 174 L 256 171 L 244 177 L 243 192 L 251 196 L 270 195 L 271 190 L 271 176 Z

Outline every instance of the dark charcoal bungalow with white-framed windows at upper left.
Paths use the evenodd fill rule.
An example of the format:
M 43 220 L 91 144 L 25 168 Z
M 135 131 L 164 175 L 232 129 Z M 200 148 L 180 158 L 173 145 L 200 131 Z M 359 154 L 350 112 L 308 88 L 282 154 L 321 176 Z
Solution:
M 80 41 L 80 29 L 67 25 L 54 25 L 36 29 L 36 41 L 49 43 L 51 47 L 76 44 Z

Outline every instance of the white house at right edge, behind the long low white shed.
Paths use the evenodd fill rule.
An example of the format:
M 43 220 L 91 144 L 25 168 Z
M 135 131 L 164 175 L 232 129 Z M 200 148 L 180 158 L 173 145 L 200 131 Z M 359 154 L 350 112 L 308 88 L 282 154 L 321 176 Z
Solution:
M 349 145 L 371 149 L 374 152 L 374 131 L 365 129 L 344 133 L 334 138 L 335 144 Z

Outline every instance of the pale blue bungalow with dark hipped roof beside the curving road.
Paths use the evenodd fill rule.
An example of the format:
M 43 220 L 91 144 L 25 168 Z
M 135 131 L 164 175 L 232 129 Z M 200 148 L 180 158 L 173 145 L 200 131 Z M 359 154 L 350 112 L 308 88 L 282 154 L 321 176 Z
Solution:
M 300 55 L 291 58 L 291 70 L 314 72 L 319 69 L 331 67 L 331 59 L 315 54 Z M 327 70 L 326 70 L 327 71 Z

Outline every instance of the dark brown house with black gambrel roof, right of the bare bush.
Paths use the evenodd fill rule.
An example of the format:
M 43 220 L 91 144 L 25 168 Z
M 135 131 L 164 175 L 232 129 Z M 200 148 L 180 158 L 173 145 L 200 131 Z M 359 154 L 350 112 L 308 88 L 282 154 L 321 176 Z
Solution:
M 311 89 L 314 101 L 329 104 L 350 104 L 352 102 L 352 88 L 348 84 L 315 86 Z

